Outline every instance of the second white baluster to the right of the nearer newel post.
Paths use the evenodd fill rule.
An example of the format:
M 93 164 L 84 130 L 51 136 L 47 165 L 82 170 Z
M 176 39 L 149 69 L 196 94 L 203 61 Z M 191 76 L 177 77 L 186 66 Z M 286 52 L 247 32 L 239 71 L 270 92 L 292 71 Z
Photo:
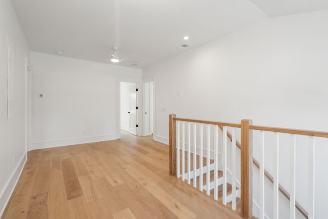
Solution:
M 273 218 L 279 217 L 279 133 L 274 132 L 273 157 Z

